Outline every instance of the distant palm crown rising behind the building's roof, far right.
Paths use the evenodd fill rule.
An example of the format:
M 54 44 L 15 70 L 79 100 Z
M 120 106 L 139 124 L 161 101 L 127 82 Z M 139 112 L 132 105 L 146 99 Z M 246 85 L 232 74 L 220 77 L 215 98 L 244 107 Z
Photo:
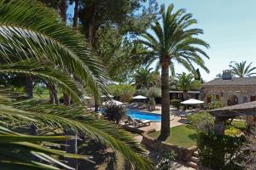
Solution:
M 251 77 L 256 74 L 253 72 L 256 67 L 252 67 L 253 62 L 247 65 L 247 61 L 241 61 L 240 63 L 235 62 L 234 65 L 230 65 L 233 75 L 237 77 Z

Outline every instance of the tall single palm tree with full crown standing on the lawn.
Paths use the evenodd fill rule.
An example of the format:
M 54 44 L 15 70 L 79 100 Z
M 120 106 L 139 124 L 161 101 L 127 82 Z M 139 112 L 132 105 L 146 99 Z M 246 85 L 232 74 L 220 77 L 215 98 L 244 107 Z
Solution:
M 203 31 L 195 27 L 191 28 L 197 23 L 192 18 L 192 14 L 187 14 L 184 9 L 175 12 L 173 8 L 173 4 L 169 5 L 167 10 L 162 6 L 160 8 L 161 20 L 150 26 L 154 33 L 146 32 L 139 40 L 151 49 L 153 57 L 149 59 L 149 62 L 156 59 L 160 62 L 162 119 L 159 139 L 166 139 L 170 135 L 170 67 L 173 68 L 172 65 L 177 62 L 189 71 L 195 71 L 193 66 L 195 63 L 208 72 L 201 55 L 207 58 L 208 56 L 200 47 L 208 48 L 209 45 L 197 37 Z

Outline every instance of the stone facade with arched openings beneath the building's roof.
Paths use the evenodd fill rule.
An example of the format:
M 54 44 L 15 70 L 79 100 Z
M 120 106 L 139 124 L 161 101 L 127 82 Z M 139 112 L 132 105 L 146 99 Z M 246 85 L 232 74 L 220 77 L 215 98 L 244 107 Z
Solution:
M 250 102 L 251 96 L 256 96 L 256 86 L 202 86 L 201 94 L 206 104 L 209 95 L 218 95 L 224 105 L 227 105 L 230 96 L 236 95 L 238 104 L 242 104 Z

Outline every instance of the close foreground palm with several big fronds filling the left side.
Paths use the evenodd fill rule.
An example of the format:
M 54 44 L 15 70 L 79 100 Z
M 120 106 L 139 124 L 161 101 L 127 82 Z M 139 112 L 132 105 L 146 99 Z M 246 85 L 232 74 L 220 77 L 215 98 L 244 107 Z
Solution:
M 38 100 L 18 102 L 16 94 L 1 89 L 0 166 L 5 165 L 6 169 L 39 169 L 45 168 L 46 164 L 56 163 L 49 156 L 52 154 L 79 158 L 66 155 L 63 151 L 48 150 L 49 146 L 55 146 L 49 141 L 67 139 L 65 137 L 47 139 L 22 135 L 20 138 L 18 133 L 12 135 L 8 129 L 3 131 L 6 126 L 11 128 L 34 124 L 38 129 L 47 127 L 50 131 L 68 128 L 80 136 L 108 144 L 134 167 L 152 169 L 148 159 L 142 157 L 144 150 L 129 133 L 85 111 L 83 104 L 79 103 L 84 93 L 83 88 L 98 97 L 100 91 L 107 93 L 108 84 L 108 77 L 105 76 L 101 63 L 85 43 L 83 35 L 61 24 L 61 18 L 55 11 L 45 8 L 35 0 L 0 0 L 0 8 L 0 72 L 39 77 L 57 85 L 74 102 L 71 106 L 49 105 Z M 79 85 L 66 70 L 80 80 Z M 37 142 L 46 144 L 47 147 L 42 148 Z M 24 153 L 29 156 L 22 157 Z M 27 159 L 31 158 L 31 154 L 42 158 L 44 162 L 48 161 L 42 167 L 41 162 Z M 64 166 L 63 163 L 61 165 Z M 56 169 L 49 166 L 47 168 Z

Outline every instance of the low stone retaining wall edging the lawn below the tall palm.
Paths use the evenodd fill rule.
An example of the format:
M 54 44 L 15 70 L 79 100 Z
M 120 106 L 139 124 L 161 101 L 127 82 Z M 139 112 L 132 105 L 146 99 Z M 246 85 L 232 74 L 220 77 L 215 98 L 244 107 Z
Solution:
M 152 133 L 155 130 L 150 130 L 145 133 L 143 133 L 143 140 L 142 144 L 144 144 L 146 147 L 152 150 L 158 150 L 158 151 L 167 151 L 167 150 L 174 150 L 177 154 L 177 160 L 179 161 L 189 161 L 191 156 L 193 155 L 193 152 L 197 150 L 196 146 L 192 146 L 190 148 L 183 148 L 177 145 L 168 144 L 166 142 L 162 142 L 157 139 L 152 139 L 148 136 L 148 133 Z

